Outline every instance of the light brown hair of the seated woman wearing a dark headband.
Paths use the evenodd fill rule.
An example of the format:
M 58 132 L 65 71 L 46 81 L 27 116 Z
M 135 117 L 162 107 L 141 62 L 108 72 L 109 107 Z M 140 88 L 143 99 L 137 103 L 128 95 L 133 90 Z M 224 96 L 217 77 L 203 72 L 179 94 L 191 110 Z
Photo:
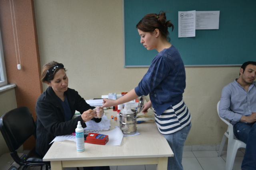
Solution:
M 54 67 L 54 66 L 56 66 L 57 64 L 59 64 L 58 62 L 56 62 L 56 61 L 51 61 L 51 62 L 49 62 L 49 63 L 46 63 L 46 64 L 44 64 L 44 66 L 43 66 L 43 68 L 42 68 L 42 73 L 41 73 L 41 82 L 51 82 L 51 80 L 53 80 L 53 78 L 54 78 L 54 75 L 55 75 L 55 73 L 58 71 L 58 70 L 60 70 L 60 69 L 64 69 L 64 71 L 66 72 L 66 68 L 64 68 L 64 67 L 57 67 L 57 68 L 55 68 L 55 70 L 54 70 L 54 72 L 52 73 L 52 74 L 47 74 L 47 71 L 51 68 L 51 67 Z M 63 66 L 63 65 L 62 65 Z

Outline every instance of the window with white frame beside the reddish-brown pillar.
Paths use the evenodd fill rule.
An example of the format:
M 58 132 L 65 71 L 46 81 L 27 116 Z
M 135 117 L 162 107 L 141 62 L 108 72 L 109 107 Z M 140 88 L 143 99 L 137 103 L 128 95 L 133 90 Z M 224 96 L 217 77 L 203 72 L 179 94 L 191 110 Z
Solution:
M 4 64 L 4 51 L 0 31 L 0 87 L 7 85 L 6 70 Z

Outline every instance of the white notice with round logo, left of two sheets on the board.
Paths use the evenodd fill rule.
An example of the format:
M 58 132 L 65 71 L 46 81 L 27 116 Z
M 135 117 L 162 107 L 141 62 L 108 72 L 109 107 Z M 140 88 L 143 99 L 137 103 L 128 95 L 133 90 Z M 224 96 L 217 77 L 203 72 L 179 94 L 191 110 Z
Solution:
M 196 11 L 179 11 L 178 27 L 178 37 L 196 37 Z

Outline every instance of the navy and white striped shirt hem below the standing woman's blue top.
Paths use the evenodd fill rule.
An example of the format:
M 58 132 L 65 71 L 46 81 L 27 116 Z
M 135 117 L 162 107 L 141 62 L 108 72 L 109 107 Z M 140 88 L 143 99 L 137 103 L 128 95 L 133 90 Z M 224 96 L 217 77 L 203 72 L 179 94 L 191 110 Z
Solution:
M 160 133 L 164 135 L 171 134 L 182 129 L 191 121 L 190 112 L 183 100 L 175 106 L 170 106 L 160 116 L 156 114 L 154 108 L 153 111 L 155 113 L 157 128 Z

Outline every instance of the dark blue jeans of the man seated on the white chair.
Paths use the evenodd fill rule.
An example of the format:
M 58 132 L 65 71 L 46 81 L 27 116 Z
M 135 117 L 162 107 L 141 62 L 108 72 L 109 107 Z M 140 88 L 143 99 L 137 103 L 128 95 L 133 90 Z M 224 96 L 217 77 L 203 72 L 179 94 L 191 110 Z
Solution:
M 256 123 L 238 122 L 234 125 L 234 135 L 246 143 L 242 170 L 256 170 Z

